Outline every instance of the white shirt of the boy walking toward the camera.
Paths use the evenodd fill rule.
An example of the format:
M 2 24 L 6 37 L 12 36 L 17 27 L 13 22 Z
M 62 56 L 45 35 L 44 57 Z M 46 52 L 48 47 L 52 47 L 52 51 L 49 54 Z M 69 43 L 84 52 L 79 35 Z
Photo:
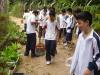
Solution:
M 57 21 L 51 22 L 49 19 L 46 22 L 46 33 L 45 33 L 45 40 L 56 40 L 57 31 L 56 27 L 59 29 Z

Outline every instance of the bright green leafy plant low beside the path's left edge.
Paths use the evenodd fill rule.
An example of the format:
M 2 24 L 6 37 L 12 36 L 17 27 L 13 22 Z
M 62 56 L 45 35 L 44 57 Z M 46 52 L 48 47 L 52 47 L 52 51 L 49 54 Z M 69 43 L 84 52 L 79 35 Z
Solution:
M 17 49 L 18 45 L 16 43 L 12 43 L 11 46 L 8 46 L 4 49 L 1 55 L 8 62 L 15 62 L 19 57 Z

